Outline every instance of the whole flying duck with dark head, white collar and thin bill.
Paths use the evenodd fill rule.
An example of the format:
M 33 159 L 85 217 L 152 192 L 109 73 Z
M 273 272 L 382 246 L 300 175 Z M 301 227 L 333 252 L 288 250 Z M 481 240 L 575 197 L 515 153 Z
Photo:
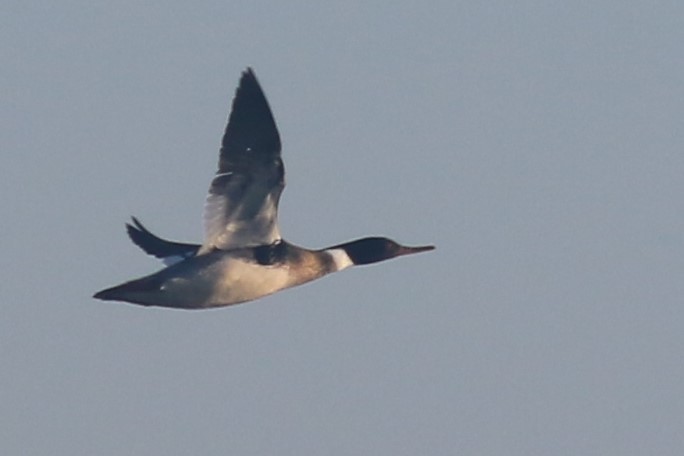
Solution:
M 221 141 L 218 170 L 204 206 L 202 244 L 169 241 L 137 218 L 131 241 L 164 263 L 153 274 L 93 295 L 104 301 L 174 309 L 240 304 L 302 285 L 351 266 L 433 250 L 386 237 L 366 237 L 307 249 L 285 241 L 278 228 L 285 188 L 280 134 L 252 68 L 241 75 Z

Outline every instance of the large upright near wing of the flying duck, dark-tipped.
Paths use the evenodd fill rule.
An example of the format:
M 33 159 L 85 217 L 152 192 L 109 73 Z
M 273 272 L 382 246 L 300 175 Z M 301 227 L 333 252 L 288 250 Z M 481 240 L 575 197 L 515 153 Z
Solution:
M 273 114 L 248 68 L 235 92 L 218 171 L 209 187 L 199 253 L 279 240 L 278 201 L 284 175 Z

